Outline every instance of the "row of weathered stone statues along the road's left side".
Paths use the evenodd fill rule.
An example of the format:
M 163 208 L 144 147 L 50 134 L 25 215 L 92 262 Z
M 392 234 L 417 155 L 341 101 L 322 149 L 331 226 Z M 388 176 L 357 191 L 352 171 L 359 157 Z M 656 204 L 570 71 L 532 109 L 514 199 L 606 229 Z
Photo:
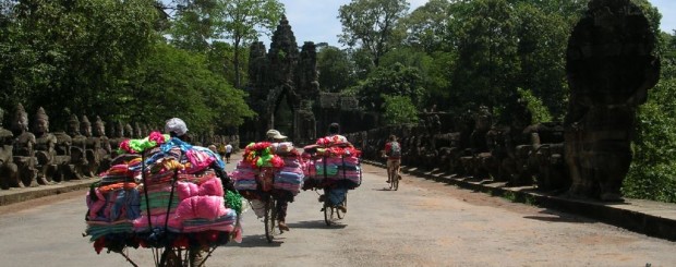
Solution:
M 28 113 L 19 104 L 11 128 L 2 125 L 5 111 L 0 108 L 0 189 L 31 187 L 62 181 L 93 178 L 110 167 L 117 149 L 126 138 L 142 138 L 159 128 L 143 123 L 117 122 L 106 133 L 106 123 L 97 116 L 72 116 L 65 131 L 49 131 L 49 117 L 38 108 L 28 122 Z M 110 137 L 108 137 L 110 136 Z M 193 135 L 195 144 L 237 145 L 234 136 Z

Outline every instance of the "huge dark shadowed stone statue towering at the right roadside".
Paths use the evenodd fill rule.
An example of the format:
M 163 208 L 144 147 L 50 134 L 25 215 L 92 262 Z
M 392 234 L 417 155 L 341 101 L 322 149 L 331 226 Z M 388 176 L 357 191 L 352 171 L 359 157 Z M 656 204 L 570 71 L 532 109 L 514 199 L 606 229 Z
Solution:
M 621 201 L 635 113 L 660 73 L 655 37 L 629 0 L 593 0 L 568 41 L 564 121 L 572 195 Z

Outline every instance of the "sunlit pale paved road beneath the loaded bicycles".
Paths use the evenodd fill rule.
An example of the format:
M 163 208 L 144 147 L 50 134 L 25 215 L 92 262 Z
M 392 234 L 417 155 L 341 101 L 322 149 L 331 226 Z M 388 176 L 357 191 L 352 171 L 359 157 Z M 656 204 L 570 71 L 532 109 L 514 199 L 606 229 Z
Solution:
M 383 169 L 365 172 L 340 226 L 326 227 L 317 194 L 301 192 L 290 232 L 267 243 L 249 211 L 244 241 L 207 266 L 676 266 L 673 242 L 420 178 L 390 192 Z M 84 192 L 0 207 L 0 266 L 129 266 L 82 238 L 85 210 Z M 148 250 L 130 257 L 153 265 Z

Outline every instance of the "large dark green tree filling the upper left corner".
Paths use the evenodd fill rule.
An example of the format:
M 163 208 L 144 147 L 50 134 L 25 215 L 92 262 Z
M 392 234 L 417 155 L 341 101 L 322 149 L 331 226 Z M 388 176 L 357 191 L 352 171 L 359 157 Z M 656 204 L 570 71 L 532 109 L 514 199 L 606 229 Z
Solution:
M 156 41 L 148 0 L 20 0 L 3 28 L 2 102 L 45 107 L 58 120 L 107 113 L 109 96 Z M 65 119 L 63 119 L 65 120 Z

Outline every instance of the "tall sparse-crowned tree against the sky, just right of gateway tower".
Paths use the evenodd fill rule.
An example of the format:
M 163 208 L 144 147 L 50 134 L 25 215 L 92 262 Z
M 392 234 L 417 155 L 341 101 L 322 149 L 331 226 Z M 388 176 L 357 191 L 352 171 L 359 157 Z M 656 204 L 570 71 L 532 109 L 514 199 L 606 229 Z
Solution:
M 338 11 L 342 24 L 338 41 L 349 47 L 359 45 L 378 66 L 381 57 L 401 44 L 405 29 L 398 23 L 408 10 L 406 0 L 352 0 Z

